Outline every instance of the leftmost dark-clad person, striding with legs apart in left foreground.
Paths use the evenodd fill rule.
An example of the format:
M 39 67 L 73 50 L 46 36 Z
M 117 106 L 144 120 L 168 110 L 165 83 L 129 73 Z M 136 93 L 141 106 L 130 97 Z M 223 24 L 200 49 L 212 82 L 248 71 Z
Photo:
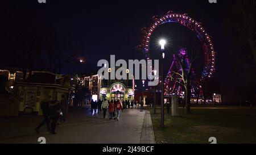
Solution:
M 52 100 L 52 97 L 51 96 L 48 96 L 46 99 L 42 100 L 41 101 L 41 110 L 43 112 L 43 115 L 44 115 L 44 119 L 43 121 L 38 125 L 38 127 L 35 128 L 35 132 L 36 133 L 40 133 L 39 132 L 39 129 L 41 127 L 43 127 L 44 124 L 47 125 L 47 131 L 50 131 L 50 126 L 49 126 L 49 123 L 50 123 L 50 119 L 49 119 L 49 102 Z

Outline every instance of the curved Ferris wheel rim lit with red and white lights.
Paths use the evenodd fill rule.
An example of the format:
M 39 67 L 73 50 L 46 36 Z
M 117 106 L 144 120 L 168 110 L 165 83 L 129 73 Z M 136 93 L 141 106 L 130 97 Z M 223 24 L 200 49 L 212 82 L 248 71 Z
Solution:
M 205 66 L 201 76 L 201 81 L 203 81 L 207 77 L 212 77 L 212 74 L 215 71 L 216 52 L 214 51 L 211 37 L 205 31 L 203 26 L 201 26 L 201 23 L 196 22 L 196 20 L 190 18 L 187 14 L 174 14 L 172 11 L 169 11 L 166 15 L 163 15 L 160 18 L 156 19 L 149 28 L 144 30 L 145 35 L 143 36 L 141 46 L 146 55 L 146 58 L 150 59 L 149 44 L 152 33 L 154 32 L 155 28 L 164 23 L 179 23 L 189 28 L 193 32 L 196 32 L 197 37 L 203 45 L 203 51 L 205 55 Z

